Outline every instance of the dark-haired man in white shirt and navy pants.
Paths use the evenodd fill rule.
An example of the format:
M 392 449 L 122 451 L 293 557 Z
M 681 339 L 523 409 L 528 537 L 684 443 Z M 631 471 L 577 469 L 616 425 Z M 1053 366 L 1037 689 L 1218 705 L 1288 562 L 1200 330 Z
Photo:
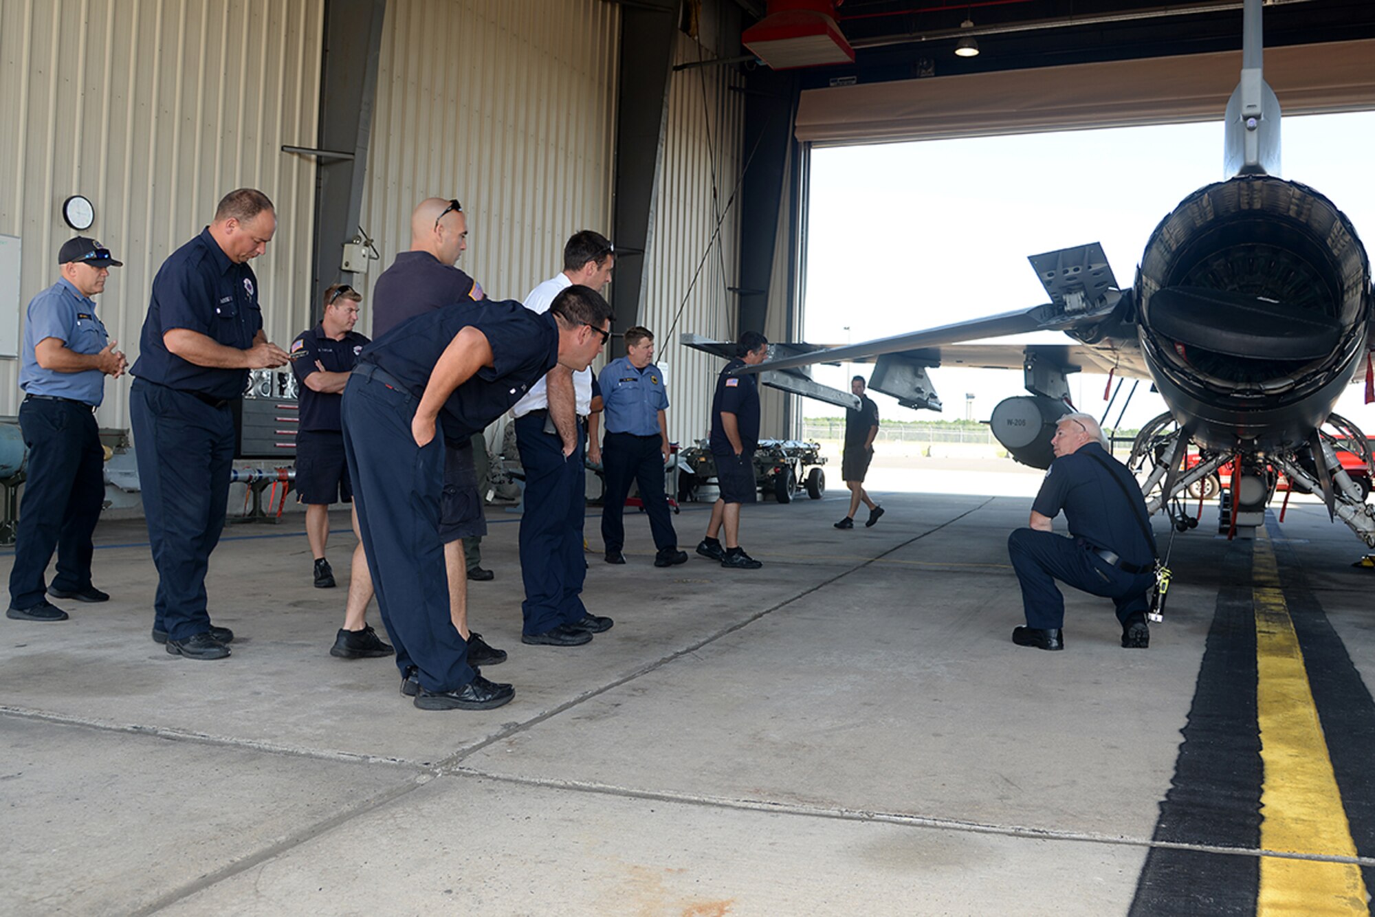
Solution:
M 575 232 L 564 245 L 564 269 L 525 297 L 525 308 L 546 312 L 572 286 L 598 293 L 610 280 L 616 250 L 600 232 Z M 602 341 L 609 331 L 597 333 Z M 525 472 L 520 520 L 520 573 L 525 583 L 522 643 L 580 646 L 612 620 L 583 606 L 584 421 L 591 412 L 591 370 L 557 366 L 514 408 L 516 445 Z

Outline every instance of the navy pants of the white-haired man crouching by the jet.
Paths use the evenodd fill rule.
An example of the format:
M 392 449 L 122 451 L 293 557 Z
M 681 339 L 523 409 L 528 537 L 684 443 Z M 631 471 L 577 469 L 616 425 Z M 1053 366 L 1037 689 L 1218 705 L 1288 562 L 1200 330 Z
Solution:
M 1145 591 L 1154 573 L 1128 573 L 1108 564 L 1078 542 L 1055 532 L 1019 528 L 1008 536 L 1008 557 L 1022 584 L 1027 627 L 1055 630 L 1064 626 L 1064 595 L 1055 580 L 1111 598 L 1119 621 L 1145 613 Z

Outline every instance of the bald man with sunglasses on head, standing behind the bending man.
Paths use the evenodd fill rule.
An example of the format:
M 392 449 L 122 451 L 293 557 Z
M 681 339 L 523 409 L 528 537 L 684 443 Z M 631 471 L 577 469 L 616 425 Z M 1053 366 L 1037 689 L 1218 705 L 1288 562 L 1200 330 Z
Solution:
M 468 216 L 456 199 L 426 198 L 411 213 L 411 247 L 399 252 L 392 265 L 382 271 L 373 286 L 373 338 L 402 324 L 407 319 L 436 309 L 466 309 L 484 301 L 483 287 L 455 267 L 468 249 Z M 477 489 L 477 452 L 487 444 L 481 433 L 462 439 L 446 437 L 444 491 L 440 502 L 439 536 L 444 544 L 444 565 L 448 571 L 450 617 L 454 627 L 468 641 L 469 661 L 474 665 L 496 665 L 506 661 L 506 650 L 490 646 L 481 634 L 468 628 L 468 580 L 491 580 L 492 572 L 481 566 L 478 544 L 487 533 L 483 498 Z M 363 565 L 355 564 L 349 583 L 349 610 L 345 628 L 363 624 L 363 608 L 371 597 L 371 586 L 358 594 L 358 577 L 366 575 Z

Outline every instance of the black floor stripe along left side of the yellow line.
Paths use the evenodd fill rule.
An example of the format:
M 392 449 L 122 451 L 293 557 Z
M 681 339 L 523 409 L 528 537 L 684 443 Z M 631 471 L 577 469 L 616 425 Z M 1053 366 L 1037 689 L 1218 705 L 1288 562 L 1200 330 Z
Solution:
M 1261 841 L 1261 740 L 1255 725 L 1251 542 L 1232 542 L 1184 741 L 1154 840 L 1255 850 Z M 1254 914 L 1260 859 L 1152 848 L 1133 917 Z

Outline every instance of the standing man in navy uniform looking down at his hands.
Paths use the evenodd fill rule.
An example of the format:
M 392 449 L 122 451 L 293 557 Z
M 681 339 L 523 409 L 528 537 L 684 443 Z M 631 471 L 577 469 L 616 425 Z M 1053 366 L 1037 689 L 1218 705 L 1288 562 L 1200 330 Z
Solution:
M 234 401 L 249 370 L 287 363 L 263 333 L 257 276 L 276 213 L 265 194 L 230 191 L 214 220 L 157 276 L 133 364 L 129 419 L 158 568 L 153 639 L 187 659 L 224 659 L 234 639 L 206 610 L 205 572 L 224 528 Z

